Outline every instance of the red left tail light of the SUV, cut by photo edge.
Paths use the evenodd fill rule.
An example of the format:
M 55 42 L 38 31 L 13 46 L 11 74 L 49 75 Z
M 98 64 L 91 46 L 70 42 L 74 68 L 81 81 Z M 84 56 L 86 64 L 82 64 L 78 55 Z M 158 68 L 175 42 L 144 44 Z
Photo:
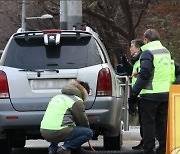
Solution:
M 0 71 L 0 98 L 9 98 L 7 76 L 3 71 Z

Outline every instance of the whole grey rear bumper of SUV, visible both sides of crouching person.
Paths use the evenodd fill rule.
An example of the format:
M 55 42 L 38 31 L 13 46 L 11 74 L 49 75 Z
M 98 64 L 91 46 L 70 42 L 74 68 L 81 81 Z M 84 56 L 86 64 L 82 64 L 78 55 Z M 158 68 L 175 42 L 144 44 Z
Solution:
M 119 133 L 122 104 L 121 98 L 97 97 L 93 107 L 86 110 L 90 126 L 103 130 L 103 133 L 107 135 Z M 43 114 L 44 111 L 18 112 L 14 110 L 11 103 L 3 103 L 0 105 L 0 130 L 39 129 Z

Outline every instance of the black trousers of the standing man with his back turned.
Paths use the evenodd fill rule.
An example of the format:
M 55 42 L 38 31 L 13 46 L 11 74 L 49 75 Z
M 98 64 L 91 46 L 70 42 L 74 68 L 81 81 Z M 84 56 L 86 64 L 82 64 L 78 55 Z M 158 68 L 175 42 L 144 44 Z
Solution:
M 155 136 L 159 141 L 157 154 L 165 154 L 168 101 L 140 99 L 144 154 L 154 154 Z

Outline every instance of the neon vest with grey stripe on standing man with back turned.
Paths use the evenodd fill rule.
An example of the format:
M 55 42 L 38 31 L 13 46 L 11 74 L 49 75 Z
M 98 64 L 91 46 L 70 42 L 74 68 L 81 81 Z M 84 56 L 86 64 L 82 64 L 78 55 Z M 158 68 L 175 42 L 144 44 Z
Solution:
M 140 94 L 169 92 L 171 76 L 171 56 L 160 41 L 153 41 L 141 47 L 153 55 L 154 74 Z

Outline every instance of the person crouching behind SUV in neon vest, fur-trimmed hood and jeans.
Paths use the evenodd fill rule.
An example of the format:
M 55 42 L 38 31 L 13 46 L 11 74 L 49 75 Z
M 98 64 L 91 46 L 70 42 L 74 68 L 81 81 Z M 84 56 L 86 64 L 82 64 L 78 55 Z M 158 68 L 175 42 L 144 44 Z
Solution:
M 70 154 L 92 138 L 83 104 L 89 90 L 88 83 L 72 80 L 49 102 L 40 127 L 43 138 L 51 142 L 49 154 Z M 58 147 L 59 142 L 64 144 Z

